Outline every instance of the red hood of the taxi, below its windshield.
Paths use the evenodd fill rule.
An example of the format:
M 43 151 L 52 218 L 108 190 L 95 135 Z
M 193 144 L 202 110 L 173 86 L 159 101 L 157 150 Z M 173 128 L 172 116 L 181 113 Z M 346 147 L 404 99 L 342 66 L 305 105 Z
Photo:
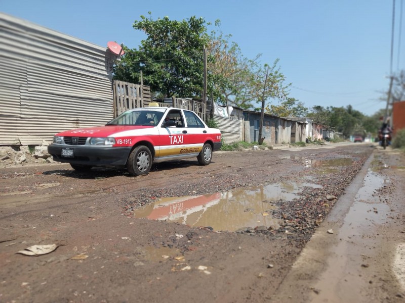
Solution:
M 108 137 L 112 136 L 115 133 L 128 131 L 128 130 L 137 130 L 152 128 L 154 126 L 134 126 L 134 125 L 106 125 L 100 127 L 88 127 L 88 128 L 77 128 L 62 131 L 57 133 L 55 136 L 72 136 L 72 137 Z

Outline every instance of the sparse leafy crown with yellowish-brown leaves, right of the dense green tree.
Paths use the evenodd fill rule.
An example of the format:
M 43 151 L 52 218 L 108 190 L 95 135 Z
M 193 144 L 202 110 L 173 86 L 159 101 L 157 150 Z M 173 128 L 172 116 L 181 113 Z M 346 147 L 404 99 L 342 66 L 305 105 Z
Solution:
M 265 99 L 285 97 L 288 85 L 283 84 L 285 77 L 277 68 L 278 59 L 271 67 L 267 64 L 263 67 L 260 54 L 254 59 L 246 58 L 239 45 L 230 41 L 232 36 L 221 32 L 219 20 L 215 25 L 219 30 L 211 32 L 208 69 L 213 90 L 218 93 L 217 99 L 223 104 L 252 109 L 256 102 L 261 101 L 263 93 Z

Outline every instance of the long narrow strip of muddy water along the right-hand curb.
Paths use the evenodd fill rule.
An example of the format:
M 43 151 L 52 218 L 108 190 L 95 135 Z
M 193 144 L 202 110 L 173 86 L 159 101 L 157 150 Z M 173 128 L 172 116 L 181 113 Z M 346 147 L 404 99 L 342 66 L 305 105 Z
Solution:
M 389 206 L 382 203 L 378 195 L 374 194 L 376 189 L 387 182 L 389 180 L 369 168 L 363 186 L 356 193 L 354 203 L 338 232 L 337 238 L 341 241 L 331 249 L 333 254 L 328 260 L 328 268 L 319 277 L 319 282 L 314 287 L 319 290 L 319 293 L 312 300 L 313 302 L 362 301 L 362 298 L 358 297 L 359 292 L 353 290 L 356 287 L 360 288 L 359 285 L 362 285 L 363 281 L 361 275 L 355 274 L 352 264 L 353 262 L 367 264 L 368 256 L 365 247 L 373 247 L 375 242 L 374 237 L 368 232 L 371 226 L 383 225 L 390 213 Z M 335 294 L 330 290 L 331 285 L 334 285 Z M 347 285 L 356 287 L 348 288 Z M 331 299 L 335 298 L 334 295 L 338 296 L 337 300 Z

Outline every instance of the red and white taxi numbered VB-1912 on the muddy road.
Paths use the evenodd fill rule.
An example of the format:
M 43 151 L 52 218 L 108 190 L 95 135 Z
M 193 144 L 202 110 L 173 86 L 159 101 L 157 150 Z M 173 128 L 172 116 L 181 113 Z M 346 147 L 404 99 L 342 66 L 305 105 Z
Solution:
M 208 165 L 221 148 L 221 131 L 209 128 L 194 112 L 149 107 L 129 110 L 105 126 L 63 131 L 48 153 L 78 171 L 96 166 L 126 167 L 145 175 L 152 163 L 197 157 Z

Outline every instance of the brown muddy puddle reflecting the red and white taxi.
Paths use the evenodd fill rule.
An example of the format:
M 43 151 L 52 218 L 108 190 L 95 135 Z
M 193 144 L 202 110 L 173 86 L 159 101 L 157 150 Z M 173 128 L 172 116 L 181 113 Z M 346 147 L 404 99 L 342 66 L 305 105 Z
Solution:
M 256 226 L 278 229 L 280 222 L 272 218 L 277 208 L 273 202 L 298 198 L 304 187 L 321 188 L 312 183 L 280 182 L 209 195 L 163 198 L 135 210 L 134 217 L 212 227 L 215 231 Z

